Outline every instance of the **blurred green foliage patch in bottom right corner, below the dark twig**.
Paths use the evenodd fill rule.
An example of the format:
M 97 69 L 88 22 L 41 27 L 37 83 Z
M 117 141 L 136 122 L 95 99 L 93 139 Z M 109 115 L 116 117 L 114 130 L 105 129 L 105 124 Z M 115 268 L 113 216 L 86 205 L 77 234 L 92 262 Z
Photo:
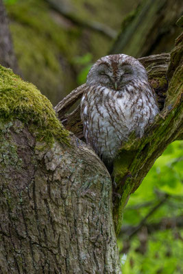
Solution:
M 182 240 L 176 239 L 170 231 L 157 232 L 150 238 L 145 254 L 136 252 L 140 245 L 134 240 L 123 274 L 181 274 L 183 273 Z

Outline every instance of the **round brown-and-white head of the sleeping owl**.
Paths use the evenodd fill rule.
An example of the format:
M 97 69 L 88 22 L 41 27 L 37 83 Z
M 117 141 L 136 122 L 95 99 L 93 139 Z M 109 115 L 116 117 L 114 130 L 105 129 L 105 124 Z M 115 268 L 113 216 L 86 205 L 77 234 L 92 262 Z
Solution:
M 121 90 L 133 80 L 148 81 L 145 67 L 135 58 L 125 54 L 100 58 L 90 69 L 86 84 Z

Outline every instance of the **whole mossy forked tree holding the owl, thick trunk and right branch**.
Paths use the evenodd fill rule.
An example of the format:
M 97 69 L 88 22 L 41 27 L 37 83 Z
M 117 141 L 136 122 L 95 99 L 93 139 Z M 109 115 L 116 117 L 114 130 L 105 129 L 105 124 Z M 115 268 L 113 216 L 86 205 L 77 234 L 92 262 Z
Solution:
M 130 193 L 167 145 L 182 138 L 182 37 L 170 60 L 167 54 L 141 59 L 160 100 L 162 91 L 166 99 L 143 138 L 130 139 L 114 162 L 114 223 L 104 164 L 62 127 L 35 86 L 1 66 L 2 273 L 121 273 L 114 225 L 119 232 Z M 60 117 L 73 95 L 56 108 Z M 73 114 L 64 118 L 75 132 Z

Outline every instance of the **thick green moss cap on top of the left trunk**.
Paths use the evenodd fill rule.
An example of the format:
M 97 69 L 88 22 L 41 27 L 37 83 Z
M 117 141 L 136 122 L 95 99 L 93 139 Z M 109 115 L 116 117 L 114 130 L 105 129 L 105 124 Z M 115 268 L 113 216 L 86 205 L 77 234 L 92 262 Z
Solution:
M 50 101 L 37 88 L 0 66 L 0 119 L 19 119 L 41 140 L 51 145 L 54 138 L 69 143 L 68 132 L 56 118 Z

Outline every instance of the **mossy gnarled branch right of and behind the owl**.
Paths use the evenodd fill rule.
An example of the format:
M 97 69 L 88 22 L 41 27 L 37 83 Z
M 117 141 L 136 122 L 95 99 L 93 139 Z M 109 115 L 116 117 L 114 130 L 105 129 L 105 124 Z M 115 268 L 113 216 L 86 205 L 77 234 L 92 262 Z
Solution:
M 132 136 L 122 145 L 118 157 L 114 160 L 112 178 L 117 186 L 114 193 L 119 194 L 114 195 L 113 212 L 117 232 L 121 229 L 123 209 L 130 194 L 140 186 L 154 161 L 167 145 L 182 137 L 182 37 L 183 35 L 176 40 L 171 58 L 169 54 L 162 53 L 140 59 L 147 69 L 151 86 L 156 90 L 161 112 L 147 128 L 143 138 Z M 80 88 L 74 92 L 74 97 L 77 97 L 77 92 L 78 97 L 81 97 Z M 60 104 L 62 105 L 62 102 Z M 67 102 L 64 101 L 64 104 L 67 105 Z M 80 106 L 71 114 L 64 116 L 63 124 L 76 136 L 83 136 Z

